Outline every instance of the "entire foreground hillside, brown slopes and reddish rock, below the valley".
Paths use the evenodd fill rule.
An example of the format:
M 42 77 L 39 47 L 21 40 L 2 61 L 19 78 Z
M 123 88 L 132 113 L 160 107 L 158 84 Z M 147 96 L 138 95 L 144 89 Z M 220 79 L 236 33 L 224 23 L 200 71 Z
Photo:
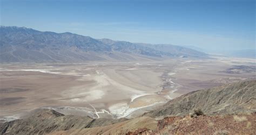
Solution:
M 256 132 L 255 89 L 256 81 L 245 81 L 193 91 L 134 119 L 92 119 L 43 109 L 28 118 L 3 123 L 0 129 L 1 134 L 253 134 Z M 198 108 L 204 115 L 193 118 L 188 115 Z

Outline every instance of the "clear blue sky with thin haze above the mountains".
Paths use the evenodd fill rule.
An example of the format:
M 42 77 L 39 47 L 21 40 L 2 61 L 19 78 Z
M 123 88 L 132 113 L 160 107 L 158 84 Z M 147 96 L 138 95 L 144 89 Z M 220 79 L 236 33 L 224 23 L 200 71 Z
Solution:
M 0 23 L 207 53 L 255 49 L 255 0 L 0 0 Z

